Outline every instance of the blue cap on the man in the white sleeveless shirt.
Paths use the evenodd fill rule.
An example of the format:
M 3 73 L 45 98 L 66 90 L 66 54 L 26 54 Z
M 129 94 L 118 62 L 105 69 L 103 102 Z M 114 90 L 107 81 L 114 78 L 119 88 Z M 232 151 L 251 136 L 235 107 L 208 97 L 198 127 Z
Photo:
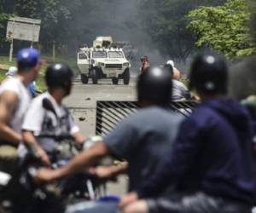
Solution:
M 17 63 L 19 70 L 32 68 L 37 66 L 40 60 L 40 53 L 38 49 L 26 48 L 21 49 L 17 55 Z

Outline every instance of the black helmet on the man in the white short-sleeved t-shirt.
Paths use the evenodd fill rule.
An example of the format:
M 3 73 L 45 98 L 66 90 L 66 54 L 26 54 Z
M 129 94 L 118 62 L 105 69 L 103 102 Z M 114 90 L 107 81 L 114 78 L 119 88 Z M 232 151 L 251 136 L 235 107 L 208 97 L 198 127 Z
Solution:
M 65 64 L 53 64 L 47 67 L 45 81 L 49 88 L 62 87 L 70 93 L 73 72 Z

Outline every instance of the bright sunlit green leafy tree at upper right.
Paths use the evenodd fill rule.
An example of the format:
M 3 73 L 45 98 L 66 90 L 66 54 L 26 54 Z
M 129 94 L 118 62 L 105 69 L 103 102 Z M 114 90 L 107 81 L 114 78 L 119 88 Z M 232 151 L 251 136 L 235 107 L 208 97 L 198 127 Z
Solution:
M 199 7 L 189 12 L 188 29 L 196 38 L 197 47 L 207 47 L 232 58 L 253 55 L 246 0 L 228 0 L 223 6 Z

